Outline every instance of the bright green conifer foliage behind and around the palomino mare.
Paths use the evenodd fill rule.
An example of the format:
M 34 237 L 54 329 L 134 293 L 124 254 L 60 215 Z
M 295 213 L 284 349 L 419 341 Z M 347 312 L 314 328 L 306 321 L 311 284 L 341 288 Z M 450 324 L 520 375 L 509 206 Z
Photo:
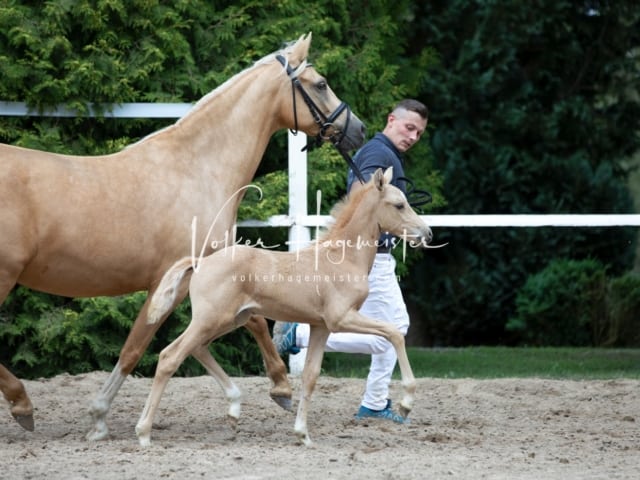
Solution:
M 9 0 L 0 6 L 0 100 L 36 111 L 62 105 L 87 113 L 124 102 L 195 102 L 283 41 L 313 32 L 310 59 L 371 132 L 389 108 L 415 96 L 424 79 L 422 55 L 404 58 L 410 2 L 322 0 Z M 171 120 L 0 117 L 0 141 L 60 153 L 97 155 L 124 148 Z M 427 143 L 416 171 L 432 189 Z M 249 190 L 240 218 L 287 213 L 287 145 L 277 133 L 258 170 L 262 200 Z M 322 213 L 344 193 L 346 166 L 330 146 L 309 153 L 309 211 L 322 190 Z M 434 192 L 437 193 L 437 192 Z M 440 196 L 441 198 L 441 196 Z M 285 246 L 283 229 L 245 230 L 244 238 Z M 62 299 L 17 288 L 0 306 L 0 360 L 22 376 L 111 369 L 144 294 Z M 136 374 L 153 373 L 158 352 L 188 322 L 185 302 L 161 327 Z M 234 374 L 257 373 L 262 361 L 240 329 L 212 351 Z M 202 373 L 188 360 L 182 374 Z

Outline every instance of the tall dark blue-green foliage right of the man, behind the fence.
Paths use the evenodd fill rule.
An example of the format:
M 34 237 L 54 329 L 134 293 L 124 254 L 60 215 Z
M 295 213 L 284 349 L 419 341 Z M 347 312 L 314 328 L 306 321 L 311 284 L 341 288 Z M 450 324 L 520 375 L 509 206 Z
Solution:
M 631 1 L 423 2 L 413 45 L 435 49 L 422 96 L 450 214 L 630 213 L 623 161 L 640 146 Z M 515 292 L 552 258 L 633 264 L 634 228 L 436 229 L 412 271 L 422 344 L 510 341 Z M 413 327 L 412 327 L 413 328 Z

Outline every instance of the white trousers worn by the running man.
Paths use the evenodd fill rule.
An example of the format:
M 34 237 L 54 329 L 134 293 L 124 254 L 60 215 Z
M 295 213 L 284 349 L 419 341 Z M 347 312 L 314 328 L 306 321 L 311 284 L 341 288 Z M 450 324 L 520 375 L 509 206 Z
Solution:
M 402 298 L 396 260 L 391 254 L 379 253 L 369 274 L 369 295 L 360 308 L 360 313 L 369 318 L 394 324 L 403 335 L 409 329 L 409 314 Z M 299 324 L 296 329 L 296 345 L 309 346 L 309 325 Z M 329 335 L 326 352 L 371 354 L 371 367 L 362 405 L 381 410 L 387 405 L 389 384 L 398 357 L 388 340 L 364 333 L 332 333 Z

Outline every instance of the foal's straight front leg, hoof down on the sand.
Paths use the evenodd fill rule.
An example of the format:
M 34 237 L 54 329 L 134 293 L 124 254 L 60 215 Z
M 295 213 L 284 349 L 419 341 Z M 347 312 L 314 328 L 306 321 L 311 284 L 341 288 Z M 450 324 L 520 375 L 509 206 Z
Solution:
M 311 394 L 316 386 L 316 381 L 322 368 L 322 358 L 324 356 L 324 347 L 327 344 L 327 338 L 329 338 L 329 330 L 327 330 L 324 325 L 311 327 L 307 358 L 304 369 L 302 370 L 302 394 L 300 395 L 300 403 L 298 404 L 296 423 L 293 427 L 300 441 L 306 446 L 310 446 L 312 443 L 307 429 L 307 413 L 309 403 L 311 402 Z

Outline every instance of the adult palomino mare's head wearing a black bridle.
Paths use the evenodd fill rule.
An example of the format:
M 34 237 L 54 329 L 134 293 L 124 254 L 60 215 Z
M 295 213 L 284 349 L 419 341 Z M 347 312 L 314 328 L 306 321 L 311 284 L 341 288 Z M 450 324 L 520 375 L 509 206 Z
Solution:
M 362 121 L 341 101 L 327 80 L 307 62 L 311 33 L 275 55 L 290 79 L 290 101 L 283 103 L 285 123 L 312 132 L 320 141 L 331 142 L 343 155 L 359 148 L 365 138 Z

